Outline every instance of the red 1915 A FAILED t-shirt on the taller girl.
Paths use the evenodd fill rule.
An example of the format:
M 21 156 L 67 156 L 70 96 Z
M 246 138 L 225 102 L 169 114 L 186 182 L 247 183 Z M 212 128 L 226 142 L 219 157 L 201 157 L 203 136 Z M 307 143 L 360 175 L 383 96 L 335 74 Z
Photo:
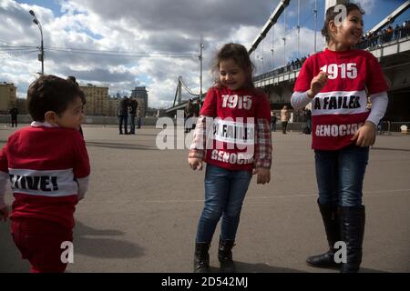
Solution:
M 371 53 L 325 49 L 304 62 L 294 91 L 309 90 L 321 70 L 329 79 L 312 101 L 312 147 L 336 150 L 350 145 L 355 131 L 364 125 L 370 113 L 367 96 L 387 91 L 388 85 Z

